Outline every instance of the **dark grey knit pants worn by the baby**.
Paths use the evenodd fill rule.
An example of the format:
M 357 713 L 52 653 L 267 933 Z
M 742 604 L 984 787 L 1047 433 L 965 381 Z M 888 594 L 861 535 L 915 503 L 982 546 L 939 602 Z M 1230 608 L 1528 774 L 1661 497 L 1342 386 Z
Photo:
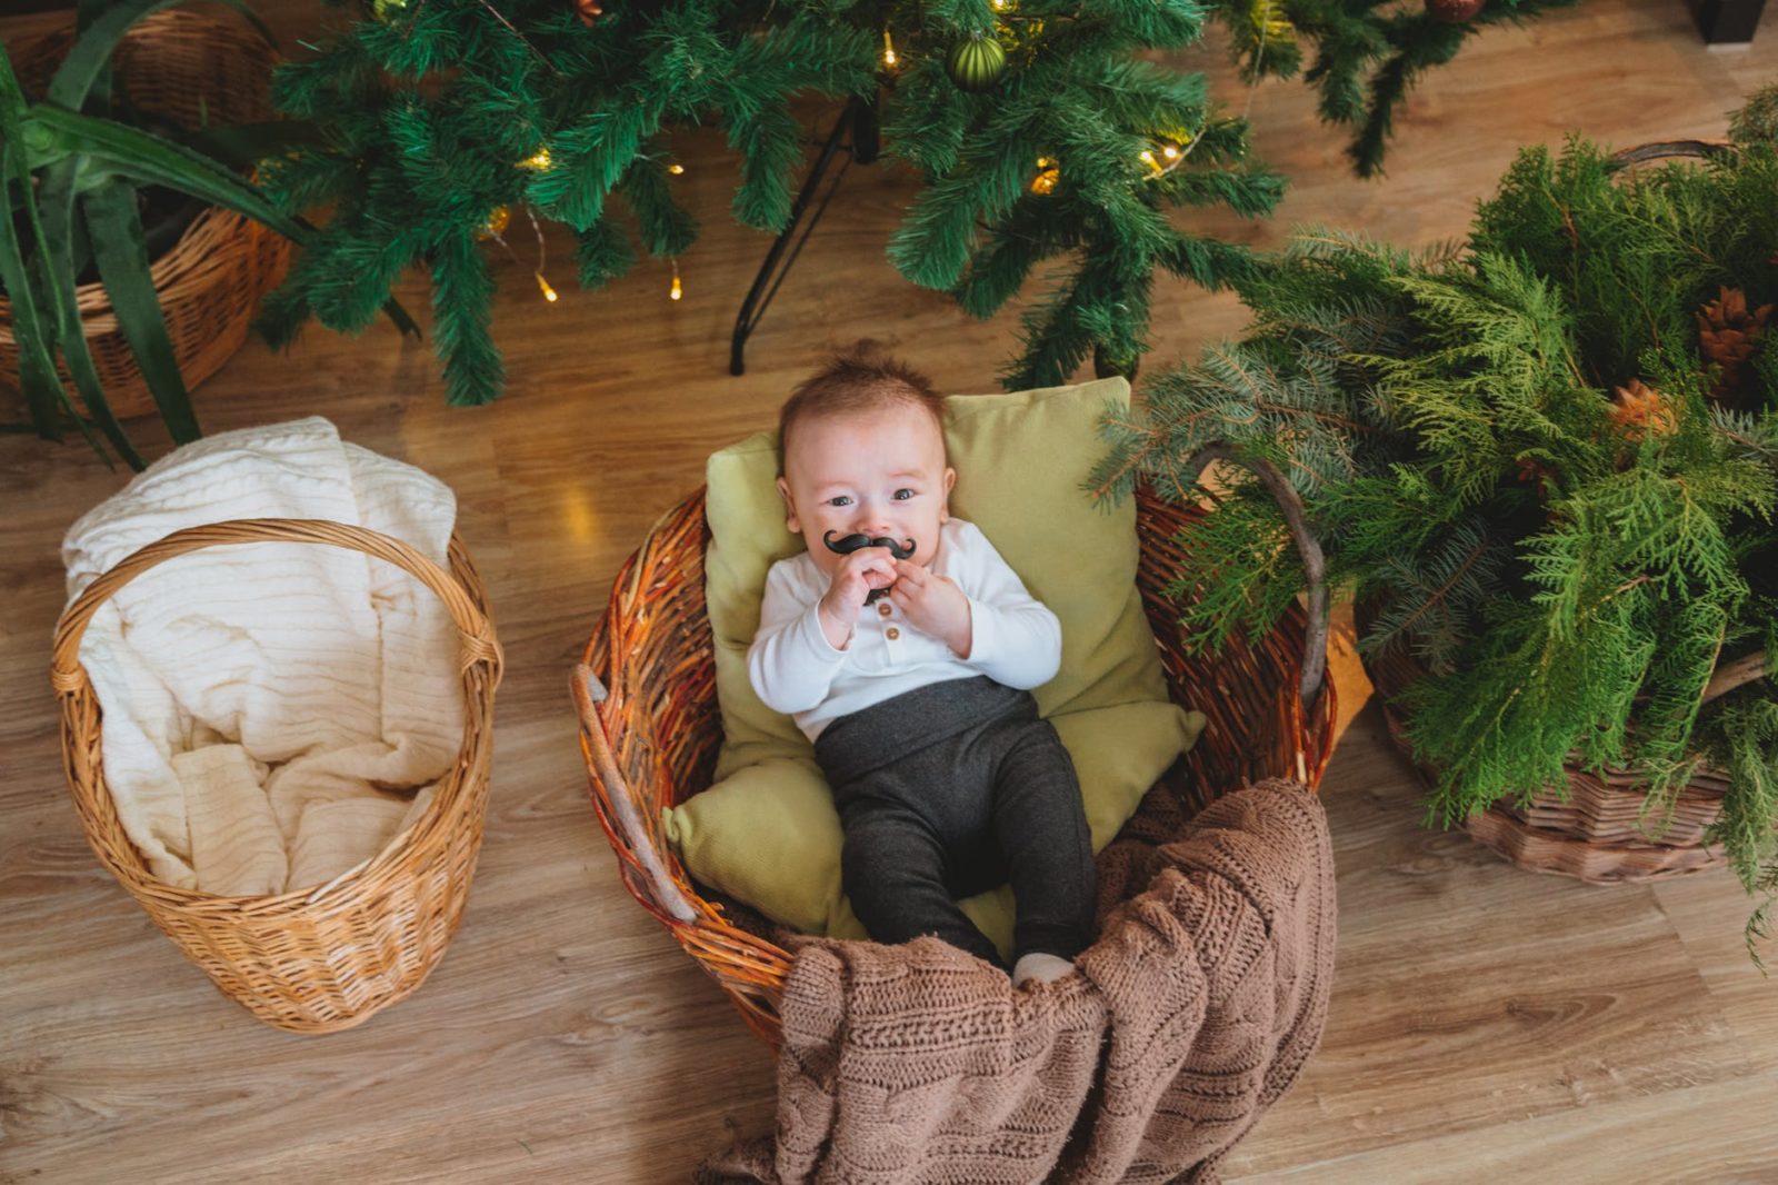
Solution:
M 843 715 L 814 742 L 845 827 L 841 877 L 880 943 L 937 934 L 999 963 L 957 907 L 1012 881 L 1013 959 L 1092 941 L 1093 852 L 1074 763 L 1029 692 L 928 683 Z

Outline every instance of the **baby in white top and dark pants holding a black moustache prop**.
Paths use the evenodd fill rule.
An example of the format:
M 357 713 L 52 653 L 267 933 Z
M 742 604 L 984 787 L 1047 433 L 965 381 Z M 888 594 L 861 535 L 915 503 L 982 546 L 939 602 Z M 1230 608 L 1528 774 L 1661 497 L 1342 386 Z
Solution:
M 747 673 L 814 742 L 871 938 L 999 963 L 955 899 L 1010 881 L 1013 980 L 1053 980 L 1093 922 L 1081 790 L 1028 690 L 1054 678 L 1061 625 L 951 518 L 939 411 L 925 377 L 864 356 L 784 404 L 777 486 L 809 550 L 772 566 Z

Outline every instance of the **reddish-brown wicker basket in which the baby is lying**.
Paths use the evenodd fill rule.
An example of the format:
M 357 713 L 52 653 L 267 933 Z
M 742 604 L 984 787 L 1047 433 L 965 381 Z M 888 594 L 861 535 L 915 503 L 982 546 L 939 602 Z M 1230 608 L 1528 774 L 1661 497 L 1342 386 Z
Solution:
M 1305 614 L 1293 610 L 1257 648 L 1241 637 L 1216 653 L 1184 651 L 1177 609 L 1161 589 L 1179 571 L 1173 537 L 1202 514 L 1200 507 L 1170 505 L 1145 488 L 1138 491 L 1136 582 L 1166 681 L 1175 701 L 1209 715 L 1173 788 L 1202 806 L 1264 778 L 1298 778 L 1314 786 L 1332 749 L 1334 690 L 1316 696 L 1305 719 L 1298 681 L 1305 633 L 1314 635 L 1305 630 Z M 722 984 L 749 1027 L 775 1046 L 791 955 L 763 936 L 770 927 L 738 925 L 729 907 L 708 900 L 661 834 L 661 808 L 709 785 L 722 740 L 704 616 L 708 543 L 699 491 L 669 511 L 617 573 L 585 653 L 603 689 L 589 694 L 583 680 L 574 681 L 581 751 L 624 884 Z M 605 699 L 592 703 L 599 690 L 606 690 Z

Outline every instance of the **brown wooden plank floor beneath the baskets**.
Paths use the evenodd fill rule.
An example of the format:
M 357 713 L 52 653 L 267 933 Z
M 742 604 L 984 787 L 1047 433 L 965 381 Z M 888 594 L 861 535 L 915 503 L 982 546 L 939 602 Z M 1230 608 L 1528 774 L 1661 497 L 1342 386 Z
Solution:
M 311 16 L 311 0 L 270 7 L 286 34 Z M 1301 221 L 1458 237 L 1515 144 L 1721 133 L 1778 66 L 1769 25 L 1751 52 L 1709 52 L 1677 0 L 1588 0 L 1488 32 L 1424 80 L 1374 183 L 1346 173 L 1301 85 L 1262 85 L 1255 142 L 1293 190 L 1275 222 L 1216 226 L 1255 244 Z M 1241 110 L 1220 44 L 1181 60 Z M 686 137 L 681 158 L 706 228 L 686 299 L 665 299 L 661 263 L 581 294 L 551 235 L 562 301 L 544 304 L 514 238 L 496 313 L 510 390 L 491 407 L 444 407 L 430 347 L 380 324 L 311 329 L 288 358 L 249 347 L 199 393 L 212 431 L 325 415 L 455 486 L 507 646 L 468 918 L 425 988 L 357 1030 L 251 1020 L 96 865 L 46 667 L 62 532 L 124 475 L 80 445 L 0 438 L 0 1180 L 674 1181 L 770 1126 L 765 1050 L 619 884 L 567 667 L 649 521 L 706 454 L 770 420 L 820 349 L 869 335 L 948 390 L 994 390 L 1015 322 L 971 322 L 903 283 L 882 246 L 914 187 L 859 169 L 733 379 L 727 333 L 766 240 L 729 221 L 720 137 Z M 423 306 L 418 285 L 404 294 Z M 1163 283 L 1150 368 L 1241 324 L 1234 301 Z M 1325 785 L 1341 875 L 1326 1037 L 1229 1178 L 1778 1180 L 1778 984 L 1741 950 L 1734 881 L 1529 875 L 1421 829 L 1417 794 L 1374 710 L 1360 715 Z

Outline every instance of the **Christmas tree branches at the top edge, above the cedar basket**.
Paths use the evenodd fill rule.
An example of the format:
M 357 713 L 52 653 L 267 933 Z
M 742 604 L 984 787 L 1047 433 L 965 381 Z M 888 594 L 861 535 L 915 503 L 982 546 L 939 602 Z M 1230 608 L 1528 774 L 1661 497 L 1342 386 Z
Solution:
M 1321 119 L 1353 130 L 1346 155 L 1358 176 L 1383 171 L 1396 109 L 1414 80 L 1444 66 L 1463 41 L 1488 25 L 1522 23 L 1577 0 L 1488 0 L 1465 21 L 1444 21 L 1431 7 L 1378 0 L 1211 0 L 1229 25 L 1230 52 L 1248 78 L 1293 78 L 1319 93 Z M 1314 46 L 1314 60 L 1305 43 Z

